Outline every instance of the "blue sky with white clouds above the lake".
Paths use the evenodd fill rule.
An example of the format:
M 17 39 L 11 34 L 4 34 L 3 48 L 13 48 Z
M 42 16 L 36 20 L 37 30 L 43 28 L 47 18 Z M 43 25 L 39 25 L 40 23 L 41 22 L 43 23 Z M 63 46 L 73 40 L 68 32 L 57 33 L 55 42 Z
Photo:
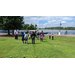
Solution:
M 38 28 L 45 27 L 75 27 L 75 16 L 24 16 L 25 24 L 37 24 Z

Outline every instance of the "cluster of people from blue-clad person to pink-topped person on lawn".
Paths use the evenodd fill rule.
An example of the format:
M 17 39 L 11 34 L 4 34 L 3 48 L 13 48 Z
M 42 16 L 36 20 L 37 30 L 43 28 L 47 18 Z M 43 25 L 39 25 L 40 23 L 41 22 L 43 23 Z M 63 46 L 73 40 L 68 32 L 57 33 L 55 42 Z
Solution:
M 27 33 L 27 32 L 22 32 L 22 42 L 23 44 L 28 44 L 28 39 L 32 39 L 32 44 L 35 44 L 35 38 L 37 38 L 37 40 L 39 40 L 42 42 L 44 39 L 44 34 L 43 33 L 36 33 L 36 32 L 32 32 L 32 33 Z

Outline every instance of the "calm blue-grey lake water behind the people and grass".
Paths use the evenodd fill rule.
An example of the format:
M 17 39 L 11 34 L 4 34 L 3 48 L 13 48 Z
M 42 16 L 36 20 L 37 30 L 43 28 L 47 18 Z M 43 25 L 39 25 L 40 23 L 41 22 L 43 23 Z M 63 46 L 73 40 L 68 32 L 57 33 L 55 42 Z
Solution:
M 41 32 L 42 30 L 39 29 L 39 32 Z M 10 32 L 12 33 L 12 30 L 10 30 Z M 19 32 L 21 32 L 21 30 L 19 30 Z M 56 35 L 59 35 L 59 30 L 43 30 L 44 33 L 53 33 Z M 60 30 L 60 34 L 61 35 L 65 35 L 66 30 Z M 8 33 L 7 30 L 0 30 L 0 33 Z M 67 35 L 75 35 L 75 30 L 67 30 Z

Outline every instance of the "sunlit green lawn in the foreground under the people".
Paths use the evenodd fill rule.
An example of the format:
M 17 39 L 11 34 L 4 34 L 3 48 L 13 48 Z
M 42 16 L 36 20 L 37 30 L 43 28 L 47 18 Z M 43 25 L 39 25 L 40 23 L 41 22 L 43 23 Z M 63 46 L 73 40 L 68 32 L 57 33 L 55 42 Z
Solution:
M 75 37 L 55 36 L 49 40 L 45 36 L 43 42 L 35 40 L 36 44 L 23 44 L 21 37 L 18 40 L 12 38 L 0 38 L 0 57 L 3 58 L 75 58 Z

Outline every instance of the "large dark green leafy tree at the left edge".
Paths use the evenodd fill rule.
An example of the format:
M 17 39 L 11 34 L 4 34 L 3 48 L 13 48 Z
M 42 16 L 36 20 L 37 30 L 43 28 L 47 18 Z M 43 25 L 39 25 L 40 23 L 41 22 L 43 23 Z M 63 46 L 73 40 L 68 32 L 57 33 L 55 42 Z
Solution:
M 21 29 L 23 22 L 22 16 L 1 16 L 1 27 L 3 30 L 8 30 L 8 35 L 10 35 L 9 30 Z

